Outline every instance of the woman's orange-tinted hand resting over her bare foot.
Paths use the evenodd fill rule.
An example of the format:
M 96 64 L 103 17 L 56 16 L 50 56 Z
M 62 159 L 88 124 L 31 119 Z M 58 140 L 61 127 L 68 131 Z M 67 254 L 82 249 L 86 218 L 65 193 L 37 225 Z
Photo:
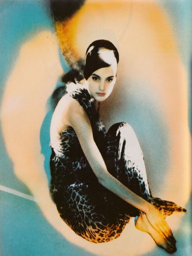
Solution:
M 165 239 L 170 243 L 176 243 L 175 238 L 172 235 L 172 231 L 168 226 L 166 220 L 163 218 L 163 215 L 157 210 L 153 205 L 146 212 L 147 220 L 150 222 L 151 226 Z

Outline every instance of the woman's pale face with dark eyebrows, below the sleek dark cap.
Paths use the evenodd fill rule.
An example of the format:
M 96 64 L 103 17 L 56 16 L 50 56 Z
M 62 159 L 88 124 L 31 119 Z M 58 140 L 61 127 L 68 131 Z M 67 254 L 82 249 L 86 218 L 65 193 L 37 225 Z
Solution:
M 116 82 L 117 61 L 109 67 L 94 71 L 87 79 L 88 91 L 98 102 L 104 101 L 112 92 Z

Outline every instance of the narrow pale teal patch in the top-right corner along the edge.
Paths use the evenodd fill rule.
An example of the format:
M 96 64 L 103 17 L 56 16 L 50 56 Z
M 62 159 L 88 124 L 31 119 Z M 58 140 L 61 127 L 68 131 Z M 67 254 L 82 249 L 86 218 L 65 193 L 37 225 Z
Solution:
M 179 53 L 188 81 L 188 120 L 192 134 L 192 1 L 191 0 L 158 0 L 166 13 L 169 14 L 172 30 L 174 31 L 179 47 Z

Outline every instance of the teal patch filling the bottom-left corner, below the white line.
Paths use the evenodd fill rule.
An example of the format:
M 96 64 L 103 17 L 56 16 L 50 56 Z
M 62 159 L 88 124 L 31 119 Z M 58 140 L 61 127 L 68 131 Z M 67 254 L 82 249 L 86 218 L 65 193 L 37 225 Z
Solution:
M 93 256 L 52 228 L 35 202 L 3 191 L 0 199 L 1 256 Z

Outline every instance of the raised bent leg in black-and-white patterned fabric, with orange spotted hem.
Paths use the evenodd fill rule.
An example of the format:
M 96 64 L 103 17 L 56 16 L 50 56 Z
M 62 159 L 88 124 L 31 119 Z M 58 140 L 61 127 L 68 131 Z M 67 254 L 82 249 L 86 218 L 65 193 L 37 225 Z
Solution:
M 114 159 L 114 170 L 111 174 L 135 194 L 152 203 L 164 217 L 171 215 L 174 211 L 186 211 L 176 203 L 152 196 L 147 181 L 143 153 L 137 136 L 128 123 L 116 123 L 107 132 L 106 158 Z M 124 206 L 126 204 L 124 203 Z M 130 216 L 138 215 L 138 210 L 136 215 L 135 211 L 132 212 L 133 208 L 128 209 Z

